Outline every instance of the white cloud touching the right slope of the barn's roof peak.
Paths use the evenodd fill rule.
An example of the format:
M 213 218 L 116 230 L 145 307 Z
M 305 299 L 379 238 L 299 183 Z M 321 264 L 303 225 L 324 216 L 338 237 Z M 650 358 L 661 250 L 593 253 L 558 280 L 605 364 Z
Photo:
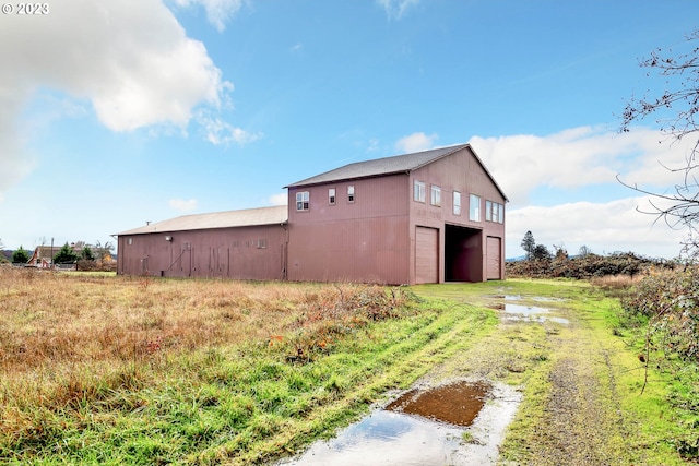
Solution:
M 528 134 L 471 139 L 514 205 L 525 205 L 537 187 L 572 189 L 590 184 L 629 183 L 672 187 L 678 174 L 664 169 L 686 165 L 689 141 L 659 143 L 657 131 L 636 128 L 630 133 L 581 127 L 547 136 Z

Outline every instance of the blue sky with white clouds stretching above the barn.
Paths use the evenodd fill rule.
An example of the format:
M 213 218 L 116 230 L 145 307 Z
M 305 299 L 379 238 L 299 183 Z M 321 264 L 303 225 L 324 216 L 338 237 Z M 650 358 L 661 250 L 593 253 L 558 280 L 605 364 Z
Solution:
M 0 239 L 114 240 L 285 202 L 337 166 L 469 142 L 510 200 L 507 256 L 675 256 L 616 175 L 666 190 L 688 145 L 619 134 L 639 60 L 682 49 L 694 0 L 61 0 L 0 14 Z

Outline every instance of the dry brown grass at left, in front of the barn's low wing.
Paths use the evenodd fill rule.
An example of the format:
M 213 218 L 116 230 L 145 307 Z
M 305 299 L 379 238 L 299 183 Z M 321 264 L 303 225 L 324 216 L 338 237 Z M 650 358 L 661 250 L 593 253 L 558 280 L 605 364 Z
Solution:
M 379 295 L 386 297 L 382 288 L 352 284 L 0 267 L 0 418 L 11 417 L 11 406 L 74 407 L 153 385 L 173 358 L 212 348 L 283 344 L 292 357 L 308 358 L 331 344 L 339 326 L 376 319 Z M 365 297 L 370 306 L 353 313 Z

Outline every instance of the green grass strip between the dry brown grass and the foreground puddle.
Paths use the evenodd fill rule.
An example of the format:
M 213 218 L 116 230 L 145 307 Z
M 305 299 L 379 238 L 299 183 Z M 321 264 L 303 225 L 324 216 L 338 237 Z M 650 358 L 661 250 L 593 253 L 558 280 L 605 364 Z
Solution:
M 388 390 L 410 386 L 472 345 L 495 319 L 484 310 L 420 300 L 408 302 L 402 316 L 362 324 L 344 334 L 317 328 L 316 339 L 332 336 L 324 347 L 305 335 L 301 360 L 289 358 L 299 344 L 291 331 L 280 343 L 157 351 L 111 373 L 112 382 L 71 372 L 63 406 L 22 405 L 5 386 L 0 462 L 264 463 L 331 434 Z

